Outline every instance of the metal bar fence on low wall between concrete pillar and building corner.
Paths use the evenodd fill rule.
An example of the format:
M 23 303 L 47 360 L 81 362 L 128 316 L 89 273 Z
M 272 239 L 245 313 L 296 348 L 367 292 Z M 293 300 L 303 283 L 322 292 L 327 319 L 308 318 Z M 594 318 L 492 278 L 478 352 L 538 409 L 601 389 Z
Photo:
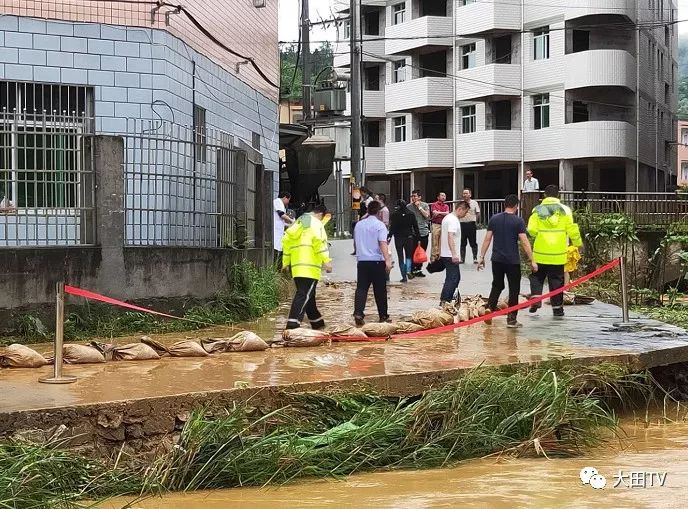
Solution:
M 231 135 L 129 119 L 125 243 L 247 247 L 255 237 L 255 173 Z M 250 175 L 252 173 L 252 175 Z

